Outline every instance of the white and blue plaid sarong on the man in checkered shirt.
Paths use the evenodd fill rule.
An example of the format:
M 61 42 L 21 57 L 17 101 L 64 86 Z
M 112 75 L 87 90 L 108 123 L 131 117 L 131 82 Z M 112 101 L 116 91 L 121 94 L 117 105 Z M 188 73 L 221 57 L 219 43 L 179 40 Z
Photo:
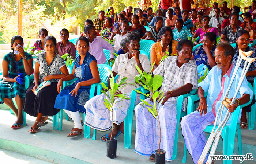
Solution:
M 147 98 L 149 104 L 154 103 Z M 140 105 L 142 104 L 142 105 Z M 135 107 L 136 121 L 136 135 L 135 135 L 135 152 L 142 156 L 150 156 L 155 154 L 155 150 L 159 145 L 159 124 L 158 121 L 146 108 L 146 105 L 141 102 Z M 160 106 L 158 111 L 159 120 L 161 124 L 161 145 L 160 149 L 166 151 L 165 160 L 171 161 L 173 152 L 173 143 L 176 129 L 176 105 L 177 101 L 168 99 L 164 105 Z M 157 105 L 157 109 L 158 109 Z

